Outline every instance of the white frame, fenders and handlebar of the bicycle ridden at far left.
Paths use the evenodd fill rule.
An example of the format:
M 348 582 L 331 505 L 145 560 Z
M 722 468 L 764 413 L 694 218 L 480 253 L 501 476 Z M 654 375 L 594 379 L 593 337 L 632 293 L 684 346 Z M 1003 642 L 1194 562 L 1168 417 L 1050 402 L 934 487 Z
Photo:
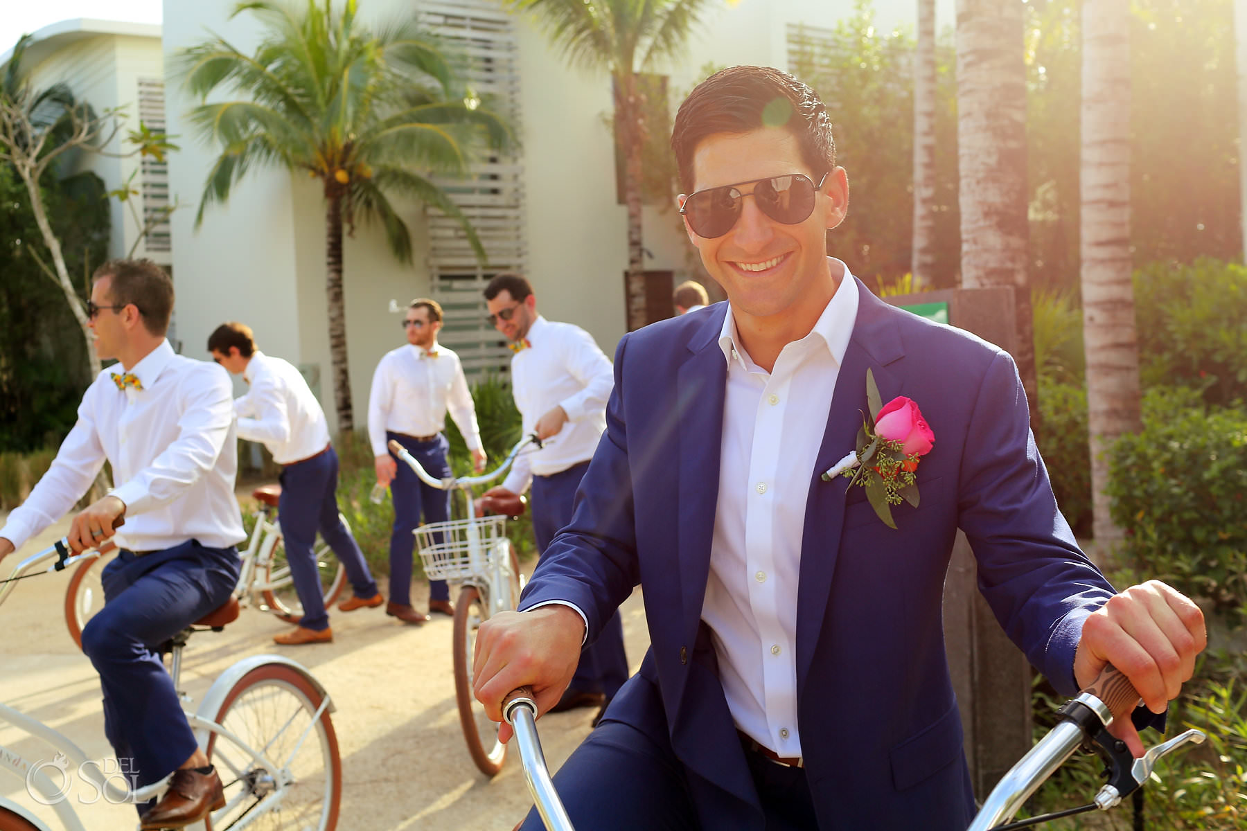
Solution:
M 26 572 L 32 572 L 32 569 L 36 566 L 51 559 L 52 557 L 56 557 L 56 562 L 52 563 L 52 566 L 46 569 L 47 572 L 64 571 L 71 566 L 76 566 L 77 563 L 85 559 L 97 556 L 99 556 L 97 551 L 89 551 L 82 554 L 70 556 L 69 548 L 65 544 L 65 542 L 59 541 L 50 548 L 45 548 L 41 552 L 34 553 L 30 557 L 22 559 L 20 563 L 17 563 L 16 568 L 14 568 L 12 573 L 10 574 L 10 578 L 22 577 L 24 574 L 26 574 Z M 0 588 L 0 604 L 2 604 L 4 601 L 9 597 L 9 593 L 12 591 L 14 586 L 15 583 L 9 582 L 5 583 L 2 588 Z M 282 664 L 289 667 L 294 672 L 303 675 L 303 678 L 308 680 L 308 683 L 313 686 L 313 689 L 315 689 L 317 693 L 320 694 L 320 706 L 319 709 L 317 709 L 317 711 L 308 721 L 308 726 L 304 728 L 303 734 L 299 736 L 299 740 L 294 743 L 294 748 L 291 750 L 292 759 L 294 754 L 297 754 L 299 749 L 303 746 L 303 743 L 307 740 L 308 735 L 311 735 L 312 730 L 315 729 L 315 725 L 319 724 L 320 716 L 325 711 L 329 713 L 334 711 L 334 706 L 332 699 L 329 698 L 328 690 L 325 690 L 324 686 L 320 684 L 320 681 L 318 681 L 315 677 L 312 675 L 312 673 L 302 664 L 291 660 L 289 658 L 286 658 L 283 655 L 252 655 L 234 664 L 231 664 L 219 677 L 217 677 L 217 679 L 212 683 L 212 686 L 208 688 L 208 691 L 203 696 L 203 701 L 200 704 L 198 709 L 195 713 L 186 713 L 186 720 L 191 725 L 191 729 L 195 731 L 195 738 L 196 741 L 198 741 L 201 750 L 205 751 L 207 750 L 209 736 L 212 734 L 216 734 L 218 736 L 218 741 L 221 739 L 224 739 L 236 750 L 241 751 L 242 756 L 253 762 L 257 767 L 263 769 L 266 771 L 266 776 L 273 784 L 273 792 L 264 796 L 247 812 L 246 816 L 241 817 L 237 822 L 234 822 L 231 826 L 231 829 L 237 829 L 237 830 L 246 829 L 252 822 L 254 822 L 264 814 L 267 814 L 269 810 L 278 807 L 292 784 L 288 759 L 277 760 L 268 757 L 267 748 L 249 746 L 247 743 L 239 739 L 234 733 L 227 730 L 226 728 L 221 726 L 213 720 L 214 715 L 219 711 L 221 705 L 224 703 L 226 696 L 234 688 L 234 684 L 237 684 L 251 670 L 256 669 L 257 667 L 263 667 L 266 664 Z M 178 681 L 177 662 L 175 660 L 175 670 L 173 670 L 175 686 L 177 686 L 177 681 Z M 186 700 L 185 696 L 183 700 Z M 91 760 L 86 757 L 86 754 L 81 750 L 81 748 L 74 744 L 74 741 L 69 736 L 57 730 L 54 730 L 52 728 L 47 726 L 39 719 L 25 715 L 24 713 L 15 710 L 14 708 L 7 706 L 6 704 L 0 704 L 0 721 L 7 721 L 17 726 L 27 735 L 40 739 L 45 744 L 55 748 L 60 754 L 64 754 L 65 759 L 71 765 L 74 765 L 75 770 L 77 770 L 84 779 L 86 779 L 101 795 L 104 795 L 105 799 L 107 799 L 113 804 L 146 802 L 150 799 L 155 799 L 161 792 L 163 792 L 170 776 L 172 776 L 172 774 L 170 774 L 170 776 L 166 776 L 158 782 L 146 785 L 133 791 L 122 790 L 111 782 L 111 777 L 101 780 L 99 776 L 94 775 L 92 772 L 89 772 L 90 771 L 89 761 Z M 60 795 L 62 791 L 64 784 L 62 786 L 55 785 L 51 777 L 44 772 L 42 770 L 44 766 L 45 765 L 40 765 L 39 762 L 35 762 L 35 765 L 32 765 L 30 760 L 25 759 L 20 754 L 0 745 L 0 771 L 7 772 L 12 776 L 19 777 L 22 782 L 29 782 L 30 785 L 32 785 L 35 790 L 39 791 L 39 795 L 42 797 L 41 801 L 44 804 L 50 805 L 50 807 L 56 812 L 56 817 L 60 820 L 65 831 L 86 831 L 85 826 L 82 825 L 82 821 L 77 816 L 77 812 L 75 812 L 74 807 L 70 805 L 70 801 L 67 799 L 57 799 L 57 795 Z M 232 767 L 232 765 L 229 766 Z M 231 772 L 237 776 L 242 771 L 238 769 L 232 769 Z M 243 799 L 247 799 L 246 791 L 241 791 L 234 797 L 234 801 L 231 805 L 226 806 L 226 810 L 234 807 Z M 14 814 L 17 814 L 19 816 L 29 820 L 35 827 L 40 829 L 40 831 L 52 831 L 52 829 L 50 829 L 46 824 L 37 820 L 26 809 L 24 809 L 21 805 L 17 805 L 16 802 L 12 802 L 11 800 L 0 797 L 0 807 L 7 809 Z M 190 827 L 195 830 L 202 830 L 205 829 L 205 824 L 201 822 Z

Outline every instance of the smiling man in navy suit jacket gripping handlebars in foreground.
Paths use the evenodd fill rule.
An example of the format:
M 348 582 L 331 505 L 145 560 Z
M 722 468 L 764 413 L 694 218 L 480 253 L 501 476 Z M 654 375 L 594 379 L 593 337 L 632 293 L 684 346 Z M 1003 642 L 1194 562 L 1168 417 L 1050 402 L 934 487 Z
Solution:
M 521 684 L 544 713 L 643 586 L 651 649 L 555 777 L 576 827 L 965 829 L 940 625 L 958 528 L 1000 625 L 1059 690 L 1111 662 L 1146 704 L 1136 723 L 1155 720 L 1203 648 L 1198 608 L 1157 582 L 1117 594 L 1079 551 L 1008 354 L 826 255 L 848 182 L 813 91 L 723 70 L 681 106 L 672 147 L 688 238 L 728 302 L 620 341 L 572 521 L 521 610 L 478 638 L 491 715 Z M 857 446 L 868 370 L 934 434 L 895 528 L 822 476 Z M 1130 719 L 1115 729 L 1141 753 Z

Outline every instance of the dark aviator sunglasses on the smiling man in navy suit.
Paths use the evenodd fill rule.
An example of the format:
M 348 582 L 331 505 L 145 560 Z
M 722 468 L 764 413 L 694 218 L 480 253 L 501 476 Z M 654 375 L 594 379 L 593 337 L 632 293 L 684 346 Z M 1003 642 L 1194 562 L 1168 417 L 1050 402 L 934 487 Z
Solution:
M 751 196 L 762 213 L 786 226 L 796 226 L 809 219 L 814 212 L 814 194 L 823 189 L 826 181 L 827 173 L 817 186 L 801 173 L 789 173 L 707 188 L 688 194 L 680 213 L 685 214 L 695 234 L 715 239 L 732 229 L 741 216 L 744 197 Z M 753 186 L 752 193 L 741 193 L 746 184 Z

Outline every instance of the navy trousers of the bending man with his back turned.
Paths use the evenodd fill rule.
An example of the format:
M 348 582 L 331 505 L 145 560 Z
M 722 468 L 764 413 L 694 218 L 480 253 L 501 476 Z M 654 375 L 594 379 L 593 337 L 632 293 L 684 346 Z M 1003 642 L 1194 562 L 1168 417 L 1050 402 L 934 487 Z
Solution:
M 338 451 L 330 447 L 319 456 L 287 465 L 278 478 L 282 496 L 277 518 L 282 526 L 286 562 L 291 564 L 294 591 L 303 604 L 299 625 L 320 632 L 329 628 L 329 613 L 324 608 L 313 551 L 317 531 L 342 561 L 357 597 L 374 597 L 377 581 L 368 571 L 359 543 L 338 515 Z

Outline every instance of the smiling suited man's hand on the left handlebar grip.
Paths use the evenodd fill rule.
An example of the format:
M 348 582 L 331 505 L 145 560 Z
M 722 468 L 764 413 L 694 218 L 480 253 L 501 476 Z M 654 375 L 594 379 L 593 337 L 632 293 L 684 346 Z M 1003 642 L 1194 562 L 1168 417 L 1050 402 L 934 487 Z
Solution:
M 537 715 L 559 703 L 580 663 L 585 622 L 567 605 L 531 612 L 500 612 L 480 624 L 473 660 L 476 699 L 494 721 L 503 720 L 503 699 L 516 686 L 532 686 Z M 510 741 L 511 725 L 499 728 Z

